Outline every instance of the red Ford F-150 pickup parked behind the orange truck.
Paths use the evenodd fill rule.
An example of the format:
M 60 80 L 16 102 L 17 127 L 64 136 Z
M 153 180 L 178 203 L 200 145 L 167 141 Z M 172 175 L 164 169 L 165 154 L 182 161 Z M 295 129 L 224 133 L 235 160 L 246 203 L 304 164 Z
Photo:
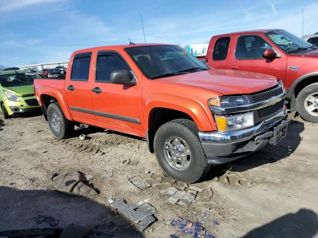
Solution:
M 279 29 L 213 36 L 207 50 L 212 68 L 264 73 L 282 80 L 291 111 L 318 122 L 318 47 Z

